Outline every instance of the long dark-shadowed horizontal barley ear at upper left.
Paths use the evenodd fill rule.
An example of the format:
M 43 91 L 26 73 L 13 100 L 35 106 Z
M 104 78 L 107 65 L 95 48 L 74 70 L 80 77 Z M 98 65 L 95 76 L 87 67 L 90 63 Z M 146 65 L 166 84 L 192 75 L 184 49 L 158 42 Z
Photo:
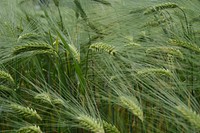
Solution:
M 13 50 L 13 55 L 18 55 L 30 51 L 48 51 L 48 50 L 53 51 L 53 47 L 47 43 L 32 42 L 22 46 L 15 47 Z

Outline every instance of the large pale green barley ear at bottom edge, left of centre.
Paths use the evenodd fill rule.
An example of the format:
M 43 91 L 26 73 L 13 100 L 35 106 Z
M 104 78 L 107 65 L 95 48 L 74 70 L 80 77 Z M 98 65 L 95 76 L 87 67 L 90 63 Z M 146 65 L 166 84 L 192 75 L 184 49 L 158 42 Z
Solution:
M 77 118 L 81 128 L 89 130 L 94 133 L 104 133 L 103 126 L 100 124 L 100 122 L 87 115 L 80 115 Z

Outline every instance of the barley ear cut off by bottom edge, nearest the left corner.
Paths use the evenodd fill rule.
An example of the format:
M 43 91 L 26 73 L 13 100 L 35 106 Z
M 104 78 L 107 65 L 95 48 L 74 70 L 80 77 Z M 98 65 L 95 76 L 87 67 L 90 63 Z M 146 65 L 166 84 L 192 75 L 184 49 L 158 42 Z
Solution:
M 42 133 L 39 126 L 26 126 L 20 128 L 17 133 Z

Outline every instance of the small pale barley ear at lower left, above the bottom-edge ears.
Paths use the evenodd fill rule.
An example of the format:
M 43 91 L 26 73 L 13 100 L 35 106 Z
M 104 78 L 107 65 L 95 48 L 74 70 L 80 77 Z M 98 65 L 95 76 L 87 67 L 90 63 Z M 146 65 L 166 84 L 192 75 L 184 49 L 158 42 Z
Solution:
M 51 97 L 48 93 L 40 93 L 37 94 L 34 99 L 42 102 L 42 103 L 47 103 L 47 104 L 52 104 L 51 103 Z

